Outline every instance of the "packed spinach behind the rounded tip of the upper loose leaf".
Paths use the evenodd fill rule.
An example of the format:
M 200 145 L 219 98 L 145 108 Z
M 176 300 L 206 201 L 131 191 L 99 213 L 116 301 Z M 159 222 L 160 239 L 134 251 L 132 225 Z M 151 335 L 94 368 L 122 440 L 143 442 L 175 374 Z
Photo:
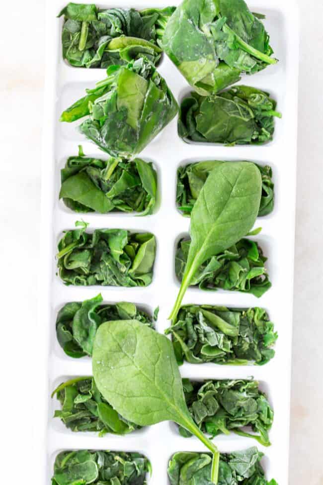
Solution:
M 219 160 L 207 160 L 205 162 L 194 162 L 177 170 L 177 191 L 176 203 L 183 215 L 190 216 L 196 199 L 208 178 L 210 172 L 216 165 L 223 162 Z M 270 214 L 274 208 L 274 183 L 272 182 L 272 171 L 268 165 L 255 164 L 261 174 L 261 199 L 258 217 Z

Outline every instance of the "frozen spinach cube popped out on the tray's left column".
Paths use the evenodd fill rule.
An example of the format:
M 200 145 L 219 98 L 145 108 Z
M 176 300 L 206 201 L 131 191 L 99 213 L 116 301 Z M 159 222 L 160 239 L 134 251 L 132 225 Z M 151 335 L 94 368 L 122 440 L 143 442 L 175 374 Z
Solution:
M 60 120 L 84 116 L 79 129 L 112 157 L 133 158 L 177 113 L 177 103 L 153 64 L 138 59 L 110 66 L 107 78 L 63 111 Z

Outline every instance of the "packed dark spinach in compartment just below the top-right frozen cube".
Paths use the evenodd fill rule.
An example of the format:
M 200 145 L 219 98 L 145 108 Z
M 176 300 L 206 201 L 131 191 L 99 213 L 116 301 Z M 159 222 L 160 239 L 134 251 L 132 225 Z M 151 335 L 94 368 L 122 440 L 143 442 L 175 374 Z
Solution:
M 183 98 L 178 134 L 184 140 L 226 145 L 261 145 L 273 138 L 276 101 L 249 86 L 234 86 L 211 96 Z

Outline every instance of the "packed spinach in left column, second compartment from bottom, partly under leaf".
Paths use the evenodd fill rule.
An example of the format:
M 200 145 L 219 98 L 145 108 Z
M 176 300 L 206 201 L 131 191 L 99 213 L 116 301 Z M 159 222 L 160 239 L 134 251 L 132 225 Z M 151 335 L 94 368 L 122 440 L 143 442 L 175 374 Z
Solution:
M 66 381 L 53 391 L 52 397 L 55 394 L 62 409 L 57 409 L 54 417 L 61 418 L 72 431 L 98 431 L 103 436 L 106 433 L 122 435 L 140 428 L 111 407 L 92 377 Z

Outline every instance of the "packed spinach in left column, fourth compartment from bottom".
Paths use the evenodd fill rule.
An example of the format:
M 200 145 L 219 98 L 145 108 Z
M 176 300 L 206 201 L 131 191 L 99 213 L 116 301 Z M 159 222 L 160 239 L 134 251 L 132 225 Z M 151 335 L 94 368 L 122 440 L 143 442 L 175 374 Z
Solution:
M 153 279 L 155 236 L 125 229 L 85 232 L 76 222 L 58 243 L 58 274 L 66 285 L 146 287 Z

